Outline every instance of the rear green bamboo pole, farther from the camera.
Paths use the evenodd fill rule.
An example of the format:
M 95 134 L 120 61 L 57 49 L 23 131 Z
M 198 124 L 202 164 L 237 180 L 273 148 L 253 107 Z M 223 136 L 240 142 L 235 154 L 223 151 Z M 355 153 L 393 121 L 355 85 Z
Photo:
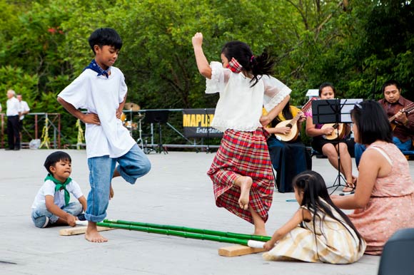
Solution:
M 175 225 L 167 225 L 167 224 L 148 224 L 144 222 L 128 222 L 128 221 L 123 221 L 120 219 L 104 219 L 104 222 L 111 223 L 111 224 L 124 224 L 124 225 L 133 225 L 137 227 L 151 227 L 151 228 L 166 229 L 166 230 L 173 230 L 173 231 L 180 231 L 180 232 L 206 234 L 206 235 L 229 237 L 229 238 L 236 238 L 236 239 L 251 239 L 253 241 L 259 241 L 259 242 L 267 242 L 268 240 L 271 239 L 271 237 L 268 237 L 268 236 L 240 234 L 240 233 L 233 233 L 233 232 L 221 232 L 221 231 L 198 229 L 198 228 L 191 228 L 191 227 L 178 227 Z

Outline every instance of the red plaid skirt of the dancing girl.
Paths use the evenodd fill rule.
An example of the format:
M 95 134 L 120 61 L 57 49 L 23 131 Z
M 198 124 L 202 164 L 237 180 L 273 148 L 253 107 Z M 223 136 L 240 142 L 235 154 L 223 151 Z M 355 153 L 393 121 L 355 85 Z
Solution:
M 238 204 L 240 187 L 234 185 L 234 182 L 238 176 L 253 179 L 248 204 L 266 222 L 275 185 L 266 134 L 268 133 L 263 128 L 254 132 L 226 130 L 207 172 L 213 180 L 216 205 L 252 224 L 251 212 L 241 209 Z

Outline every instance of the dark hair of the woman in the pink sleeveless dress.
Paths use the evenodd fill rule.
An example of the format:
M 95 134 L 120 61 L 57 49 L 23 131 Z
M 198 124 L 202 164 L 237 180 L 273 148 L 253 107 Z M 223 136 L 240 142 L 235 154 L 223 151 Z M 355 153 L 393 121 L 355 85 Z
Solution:
M 350 115 L 358 128 L 359 143 L 371 144 L 375 140 L 393 142 L 393 129 L 380 103 L 366 100 L 355 104 Z

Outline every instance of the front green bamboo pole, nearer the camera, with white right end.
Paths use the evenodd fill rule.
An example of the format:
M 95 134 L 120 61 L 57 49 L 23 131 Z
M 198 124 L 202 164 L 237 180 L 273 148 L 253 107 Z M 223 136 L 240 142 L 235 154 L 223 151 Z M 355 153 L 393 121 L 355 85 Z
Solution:
M 169 229 L 158 229 L 158 228 L 152 228 L 152 227 L 138 227 L 136 225 L 129 225 L 129 224 L 98 222 L 96 225 L 98 225 L 99 227 L 128 229 L 128 230 L 148 232 L 148 233 L 171 235 L 171 236 L 183 237 L 183 238 L 188 238 L 188 239 L 206 239 L 208 241 L 226 242 L 226 243 L 231 243 L 231 244 L 242 244 L 245 246 L 248 246 L 248 242 L 249 242 L 248 239 L 236 239 L 236 238 L 230 238 L 230 237 L 220 237 L 220 236 L 213 236 L 213 235 L 208 235 L 208 234 L 197 234 L 197 233 L 190 233 L 190 232 L 173 231 Z

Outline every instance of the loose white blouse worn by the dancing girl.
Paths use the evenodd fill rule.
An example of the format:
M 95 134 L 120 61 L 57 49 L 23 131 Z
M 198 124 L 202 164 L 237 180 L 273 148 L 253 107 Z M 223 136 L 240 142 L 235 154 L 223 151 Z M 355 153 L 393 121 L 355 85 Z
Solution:
M 252 132 L 262 127 L 263 106 L 270 111 L 291 93 L 288 86 L 271 76 L 262 76 L 251 87 L 251 78 L 243 73 L 233 73 L 215 61 L 210 66 L 211 79 L 206 80 L 206 93 L 220 93 L 211 126 L 221 132 L 227 129 Z

